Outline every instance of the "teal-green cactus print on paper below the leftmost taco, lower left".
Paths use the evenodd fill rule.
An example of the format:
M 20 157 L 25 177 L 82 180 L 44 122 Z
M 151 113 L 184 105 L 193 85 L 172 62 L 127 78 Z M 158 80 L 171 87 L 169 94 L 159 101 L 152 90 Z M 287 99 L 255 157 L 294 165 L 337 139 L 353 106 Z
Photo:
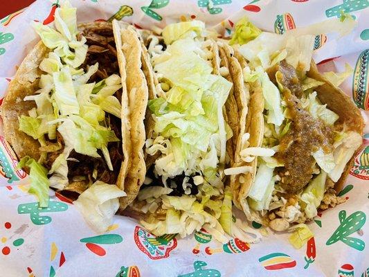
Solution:
M 39 208 L 38 202 L 20 204 L 18 206 L 18 213 L 30 214 L 30 220 L 36 225 L 45 225 L 51 222 L 51 217 L 47 215 L 40 216 L 40 213 L 54 213 L 66 211 L 68 206 L 62 202 L 49 202 L 47 208 Z

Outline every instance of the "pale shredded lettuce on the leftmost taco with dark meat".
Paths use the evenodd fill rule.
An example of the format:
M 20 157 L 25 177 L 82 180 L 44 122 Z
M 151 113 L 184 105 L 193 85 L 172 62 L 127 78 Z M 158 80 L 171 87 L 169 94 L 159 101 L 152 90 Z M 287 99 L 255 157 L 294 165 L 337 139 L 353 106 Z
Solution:
M 39 163 L 45 161 L 47 152 L 55 152 L 62 147 L 60 143 L 46 143 L 45 134 L 49 140 L 53 140 L 58 131 L 64 141 L 64 151 L 55 159 L 48 172 L 30 158 L 22 159 L 19 163 L 20 166 L 30 168 L 30 193 L 35 193 L 39 198 L 39 205 L 44 207 L 48 203 L 48 186 L 62 190 L 69 183 L 67 160 L 72 150 L 96 158 L 100 157 L 98 150 L 101 150 L 107 167 L 114 170 L 107 145 L 119 139 L 109 128 L 105 112 L 120 118 L 121 105 L 114 93 L 122 86 L 120 76 L 116 74 L 98 84 L 87 84 L 98 71 L 98 63 L 89 66 L 87 72 L 79 68 L 86 59 L 87 39 L 78 35 L 76 9 L 69 1 L 63 1 L 61 7 L 55 10 L 55 29 L 40 23 L 34 23 L 34 27 L 51 52 L 39 64 L 39 69 L 43 71 L 39 79 L 39 90 L 33 96 L 24 98 L 25 101 L 35 101 L 37 108 L 28 111 L 30 116 L 19 118 L 19 129 L 33 139 L 38 139 L 42 145 Z M 51 177 L 48 179 L 47 175 Z M 111 188 L 113 186 L 109 185 L 109 189 Z M 104 186 L 91 186 L 89 192 L 81 195 L 80 202 L 87 203 L 86 197 L 91 200 L 91 194 L 96 192 L 96 197 L 102 199 L 111 190 Z M 122 196 L 124 192 L 120 191 L 118 194 Z M 114 200 L 114 205 L 108 202 L 103 200 L 99 208 L 95 207 L 99 215 L 91 219 L 92 222 L 101 221 L 98 217 L 104 217 L 102 213 L 106 213 L 108 217 L 115 213 L 116 208 L 111 206 L 116 207 L 118 199 Z M 83 212 L 85 215 L 87 210 Z

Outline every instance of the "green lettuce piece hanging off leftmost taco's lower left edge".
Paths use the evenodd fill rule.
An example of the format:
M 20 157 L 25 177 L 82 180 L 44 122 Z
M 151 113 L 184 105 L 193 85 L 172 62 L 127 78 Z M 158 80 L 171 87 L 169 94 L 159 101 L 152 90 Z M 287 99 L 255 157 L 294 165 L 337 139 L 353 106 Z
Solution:
M 30 157 L 24 157 L 18 163 L 18 168 L 30 168 L 30 188 L 28 193 L 36 195 L 39 201 L 39 207 L 46 208 L 48 206 L 48 187 L 50 181 L 47 178 L 47 170 Z

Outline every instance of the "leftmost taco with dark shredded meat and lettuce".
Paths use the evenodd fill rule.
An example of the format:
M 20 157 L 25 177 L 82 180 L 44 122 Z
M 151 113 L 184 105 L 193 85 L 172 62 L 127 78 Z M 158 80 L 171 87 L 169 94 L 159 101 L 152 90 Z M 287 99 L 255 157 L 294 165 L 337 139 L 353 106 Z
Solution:
M 39 206 L 48 206 L 54 188 L 77 199 L 103 232 L 125 196 L 129 167 L 125 61 L 110 23 L 77 26 L 75 14 L 66 1 L 55 10 L 55 28 L 34 24 L 41 41 L 10 82 L 1 116 Z

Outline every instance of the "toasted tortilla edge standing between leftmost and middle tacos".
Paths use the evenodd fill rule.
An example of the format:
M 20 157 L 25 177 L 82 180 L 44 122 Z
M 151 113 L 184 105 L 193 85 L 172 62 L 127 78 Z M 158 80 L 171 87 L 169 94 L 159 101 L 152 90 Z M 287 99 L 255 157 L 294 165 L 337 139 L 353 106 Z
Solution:
M 149 87 L 152 86 L 150 80 L 147 82 L 145 73 L 149 74 L 147 69 L 147 57 L 145 57 L 145 48 L 142 47 L 136 30 L 132 26 L 113 21 L 114 35 L 116 37 L 116 46 L 118 51 L 121 68 L 126 69 L 125 78 L 127 84 L 127 100 L 129 113 L 125 114 L 129 125 L 129 143 L 130 157 L 127 165 L 127 175 L 125 175 L 124 190 L 127 197 L 120 198 L 120 210 L 124 210 L 127 205 L 136 198 L 140 187 L 145 180 L 145 160 L 143 154 L 143 145 L 145 143 L 145 112 L 147 99 L 149 96 Z M 147 53 L 147 51 L 146 51 Z M 146 60 L 145 60 L 146 59 Z M 150 76 L 148 76 L 150 78 Z

